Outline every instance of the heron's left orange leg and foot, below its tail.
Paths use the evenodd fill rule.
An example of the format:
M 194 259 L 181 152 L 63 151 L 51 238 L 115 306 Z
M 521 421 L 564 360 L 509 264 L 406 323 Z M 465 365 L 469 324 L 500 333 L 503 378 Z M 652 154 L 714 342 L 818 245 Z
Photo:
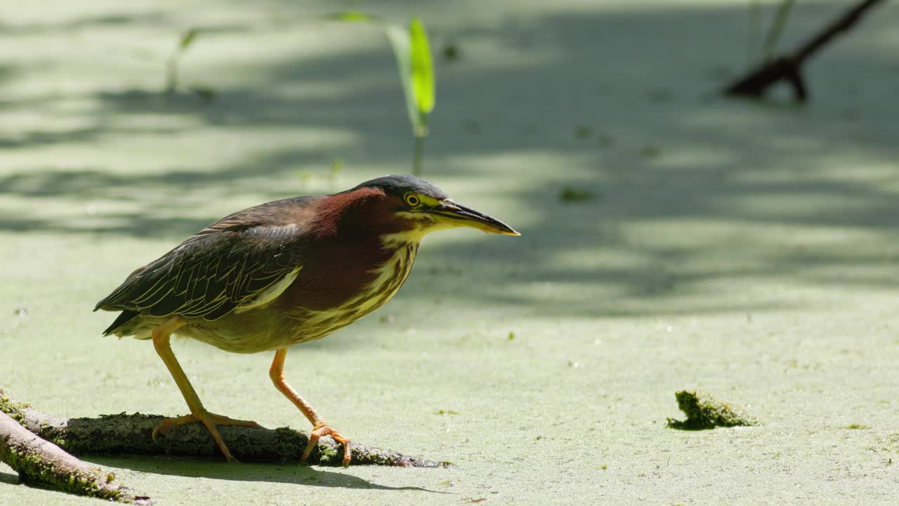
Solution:
M 187 375 L 184 374 L 184 370 L 181 368 L 181 365 L 178 364 L 178 359 L 174 357 L 174 353 L 172 352 L 172 346 L 170 344 L 172 333 L 181 328 L 184 324 L 184 321 L 175 317 L 156 327 L 156 329 L 153 330 L 153 346 L 156 348 L 156 353 L 158 353 L 159 357 L 165 362 L 165 366 L 168 367 L 169 372 L 172 373 L 174 383 L 177 384 L 178 389 L 181 390 L 184 401 L 187 402 L 187 407 L 191 409 L 191 414 L 163 420 L 156 426 L 156 429 L 153 429 L 153 440 L 156 441 L 156 437 L 158 437 L 159 434 L 165 434 L 165 432 L 173 427 L 199 421 L 206 426 L 206 429 L 209 429 L 209 434 L 212 435 L 212 438 L 216 441 L 216 444 L 218 444 L 218 448 L 225 458 L 228 460 L 236 460 L 234 456 L 231 456 L 231 452 L 227 449 L 225 441 L 222 440 L 221 434 L 218 433 L 216 426 L 240 425 L 243 427 L 258 428 L 259 424 L 249 420 L 234 420 L 227 416 L 217 415 L 206 411 L 203 407 L 203 403 L 200 402 L 200 397 L 197 395 L 197 392 L 193 390 L 193 385 L 191 385 L 191 382 L 187 379 Z

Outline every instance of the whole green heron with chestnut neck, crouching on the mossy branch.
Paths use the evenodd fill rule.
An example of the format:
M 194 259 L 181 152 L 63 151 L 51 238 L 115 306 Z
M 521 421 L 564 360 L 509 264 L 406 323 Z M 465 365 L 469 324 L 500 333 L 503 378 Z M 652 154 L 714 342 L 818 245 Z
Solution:
M 273 350 L 271 381 L 313 426 L 300 460 L 319 438 L 331 436 L 343 445 L 343 465 L 349 465 L 350 440 L 288 384 L 287 350 L 387 303 L 409 276 L 423 236 L 455 227 L 519 235 L 414 176 L 379 177 L 339 194 L 263 203 L 212 223 L 138 268 L 94 311 L 121 312 L 104 335 L 153 339 L 191 410 L 163 420 L 154 439 L 199 421 L 234 460 L 216 426 L 258 427 L 203 408 L 169 344 L 177 334 L 234 353 Z

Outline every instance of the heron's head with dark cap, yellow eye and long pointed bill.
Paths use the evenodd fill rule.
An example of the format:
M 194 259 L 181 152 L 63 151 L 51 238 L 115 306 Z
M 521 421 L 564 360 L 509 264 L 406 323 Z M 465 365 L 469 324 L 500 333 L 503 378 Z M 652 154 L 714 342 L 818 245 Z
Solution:
M 434 230 L 471 227 L 487 233 L 521 235 L 512 227 L 483 212 L 449 198 L 436 185 L 415 176 L 384 176 L 366 181 L 343 194 L 373 194 L 368 212 L 396 230 L 394 238 L 420 240 Z M 336 196 L 336 195 L 335 195 Z

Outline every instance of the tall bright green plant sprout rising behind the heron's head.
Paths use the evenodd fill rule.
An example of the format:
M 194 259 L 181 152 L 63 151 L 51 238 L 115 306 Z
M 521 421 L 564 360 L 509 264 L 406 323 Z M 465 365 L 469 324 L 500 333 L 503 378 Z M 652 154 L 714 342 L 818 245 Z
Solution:
M 396 57 L 396 69 L 403 86 L 405 109 L 409 115 L 414 137 L 414 157 L 412 173 L 422 175 L 424 140 L 428 137 L 428 117 L 434 109 L 435 82 L 431 56 L 431 43 L 421 19 L 414 17 L 409 27 L 388 23 L 371 14 L 358 11 L 331 14 L 328 19 L 347 23 L 378 23 L 387 34 L 390 48 Z

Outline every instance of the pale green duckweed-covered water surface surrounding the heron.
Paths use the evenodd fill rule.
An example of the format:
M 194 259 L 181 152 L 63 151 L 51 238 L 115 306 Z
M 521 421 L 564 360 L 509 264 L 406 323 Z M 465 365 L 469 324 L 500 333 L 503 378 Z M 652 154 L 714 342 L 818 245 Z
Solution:
M 229 212 L 411 172 L 380 23 L 418 18 L 436 90 L 423 177 L 522 236 L 429 237 L 394 301 L 298 347 L 287 374 L 349 437 L 459 466 L 246 465 L 236 482 L 216 463 L 92 461 L 165 503 L 884 501 L 899 6 L 803 65 L 805 104 L 784 83 L 723 94 L 856 4 L 4 5 L 0 386 L 60 416 L 183 411 L 147 343 L 102 338 L 93 304 Z M 346 15 L 363 12 L 378 20 Z M 271 357 L 175 352 L 212 411 L 307 429 Z M 684 387 L 765 423 L 665 429 Z M 0 498 L 64 501 L 4 472 Z

